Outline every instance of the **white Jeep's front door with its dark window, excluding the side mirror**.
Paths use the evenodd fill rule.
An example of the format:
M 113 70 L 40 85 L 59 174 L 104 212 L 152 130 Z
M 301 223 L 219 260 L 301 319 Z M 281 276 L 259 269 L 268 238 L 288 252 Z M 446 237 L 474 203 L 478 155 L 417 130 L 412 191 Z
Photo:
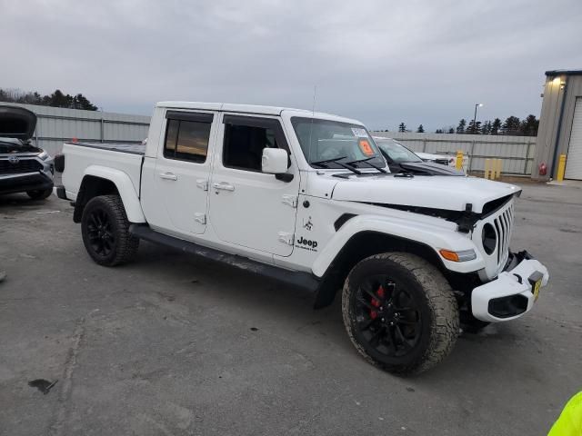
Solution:
M 292 180 L 261 173 L 264 148 L 289 152 L 283 126 L 276 117 L 265 116 L 224 114 L 222 121 L 209 188 L 210 223 L 222 241 L 288 256 L 293 252 L 299 172 L 290 158 Z

